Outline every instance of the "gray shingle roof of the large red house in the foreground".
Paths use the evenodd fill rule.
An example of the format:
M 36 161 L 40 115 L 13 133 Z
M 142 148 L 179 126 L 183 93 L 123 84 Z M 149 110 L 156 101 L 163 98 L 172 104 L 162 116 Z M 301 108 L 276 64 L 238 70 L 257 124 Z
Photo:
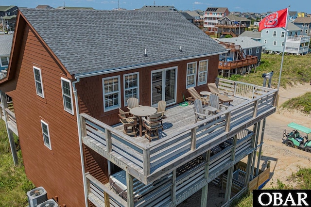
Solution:
M 226 52 L 178 12 L 20 11 L 71 75 Z

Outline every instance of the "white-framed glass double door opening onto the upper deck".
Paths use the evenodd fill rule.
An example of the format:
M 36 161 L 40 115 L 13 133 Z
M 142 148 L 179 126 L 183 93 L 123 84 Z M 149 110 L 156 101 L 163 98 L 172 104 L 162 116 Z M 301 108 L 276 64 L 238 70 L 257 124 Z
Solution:
M 160 100 L 166 104 L 176 103 L 177 67 L 155 70 L 151 73 L 151 103 L 156 107 Z

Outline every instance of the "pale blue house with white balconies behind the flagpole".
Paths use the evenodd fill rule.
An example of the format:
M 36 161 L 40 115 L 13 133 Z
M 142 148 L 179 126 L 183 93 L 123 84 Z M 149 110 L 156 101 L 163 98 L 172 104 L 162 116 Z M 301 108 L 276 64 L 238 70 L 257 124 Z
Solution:
M 261 31 L 261 43 L 265 52 L 281 53 L 285 44 L 285 51 L 292 54 L 306 54 L 309 49 L 310 36 L 301 35 L 301 29 L 293 23 L 288 23 L 287 38 L 285 28 L 271 28 Z

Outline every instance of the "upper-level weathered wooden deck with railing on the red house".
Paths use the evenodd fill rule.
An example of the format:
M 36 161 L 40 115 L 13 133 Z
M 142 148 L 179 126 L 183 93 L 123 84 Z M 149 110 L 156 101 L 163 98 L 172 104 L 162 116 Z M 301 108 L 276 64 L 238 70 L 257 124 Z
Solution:
M 228 110 L 194 124 L 191 105 L 171 107 L 160 139 L 151 143 L 80 114 L 83 143 L 142 183 L 151 183 L 276 111 L 275 89 L 229 80 L 221 80 L 219 88 L 233 96 Z

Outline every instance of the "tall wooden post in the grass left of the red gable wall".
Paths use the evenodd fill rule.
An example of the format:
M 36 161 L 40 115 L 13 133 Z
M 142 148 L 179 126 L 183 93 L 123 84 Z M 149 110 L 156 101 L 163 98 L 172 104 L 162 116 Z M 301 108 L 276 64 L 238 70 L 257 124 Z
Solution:
M 5 93 L 2 91 L 1 91 L 1 104 L 2 104 L 2 109 L 3 109 L 3 117 L 4 117 L 5 127 L 6 127 L 6 131 L 8 133 L 11 153 L 12 153 L 12 157 L 13 157 L 13 162 L 14 162 L 14 165 L 17 165 L 18 164 L 18 158 L 17 158 L 17 150 L 16 150 L 16 146 L 15 146 L 15 142 L 14 142 L 14 136 L 13 136 L 13 133 L 12 133 L 12 131 L 8 125 L 8 114 L 4 110 L 4 109 L 8 108 L 8 103 L 6 100 Z

